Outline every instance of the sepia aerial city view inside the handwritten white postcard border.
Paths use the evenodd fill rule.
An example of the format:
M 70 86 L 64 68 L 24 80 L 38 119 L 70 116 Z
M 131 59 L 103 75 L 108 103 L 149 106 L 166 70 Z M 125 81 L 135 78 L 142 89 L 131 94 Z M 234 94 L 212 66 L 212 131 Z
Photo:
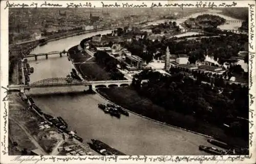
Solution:
M 8 12 L 9 155 L 249 154 L 248 8 Z

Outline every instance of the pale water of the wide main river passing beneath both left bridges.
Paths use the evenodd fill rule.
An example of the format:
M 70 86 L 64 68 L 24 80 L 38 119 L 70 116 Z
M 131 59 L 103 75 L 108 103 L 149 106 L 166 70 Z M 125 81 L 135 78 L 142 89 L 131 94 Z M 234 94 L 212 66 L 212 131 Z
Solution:
M 111 30 L 83 34 L 36 47 L 31 53 L 68 50 L 87 37 L 111 33 Z M 34 67 L 30 83 L 35 81 L 66 77 L 73 65 L 66 56 L 58 54 L 39 57 L 38 61 L 29 59 Z M 85 94 L 87 87 L 62 87 L 31 89 L 35 103 L 45 113 L 61 116 L 69 124 L 70 130 L 76 130 L 83 142 L 98 139 L 129 155 L 203 155 L 199 145 L 211 146 L 202 135 L 194 134 L 174 127 L 163 125 L 130 113 L 130 117 L 120 119 L 104 114 L 98 103 L 106 102 L 97 94 Z

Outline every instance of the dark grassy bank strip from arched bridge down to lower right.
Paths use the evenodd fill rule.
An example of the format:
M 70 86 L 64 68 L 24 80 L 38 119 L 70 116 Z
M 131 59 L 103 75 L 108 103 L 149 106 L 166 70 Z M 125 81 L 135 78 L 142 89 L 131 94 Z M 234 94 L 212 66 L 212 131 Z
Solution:
M 118 105 L 134 113 L 148 118 L 165 122 L 170 125 L 182 127 L 206 135 L 214 136 L 230 144 L 245 145 L 245 141 L 237 138 L 230 138 L 219 127 L 207 124 L 205 121 L 196 119 L 194 116 L 184 115 L 175 111 L 165 110 L 163 107 L 154 104 L 150 99 L 141 97 L 132 87 L 125 88 L 99 88 L 98 92 L 115 102 Z M 169 107 L 170 109 L 172 106 Z

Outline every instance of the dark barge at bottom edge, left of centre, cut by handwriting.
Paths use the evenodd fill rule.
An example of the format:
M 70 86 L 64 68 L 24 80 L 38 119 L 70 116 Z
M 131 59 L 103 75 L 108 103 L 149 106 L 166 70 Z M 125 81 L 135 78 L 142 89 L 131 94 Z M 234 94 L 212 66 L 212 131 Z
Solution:
M 88 143 L 89 146 L 101 155 L 126 155 L 99 140 L 92 139 L 91 141 L 92 143 Z

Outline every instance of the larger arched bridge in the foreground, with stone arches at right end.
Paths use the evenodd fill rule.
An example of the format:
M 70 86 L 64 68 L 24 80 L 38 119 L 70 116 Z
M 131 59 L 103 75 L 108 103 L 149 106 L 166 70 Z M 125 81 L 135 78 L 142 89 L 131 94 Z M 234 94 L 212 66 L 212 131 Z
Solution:
M 90 90 L 93 90 L 102 87 L 125 87 L 131 83 L 132 80 L 84 81 L 72 79 L 72 81 L 68 81 L 66 77 L 61 77 L 42 79 L 30 85 L 10 85 L 8 88 L 9 90 L 29 90 L 33 88 L 89 86 Z

